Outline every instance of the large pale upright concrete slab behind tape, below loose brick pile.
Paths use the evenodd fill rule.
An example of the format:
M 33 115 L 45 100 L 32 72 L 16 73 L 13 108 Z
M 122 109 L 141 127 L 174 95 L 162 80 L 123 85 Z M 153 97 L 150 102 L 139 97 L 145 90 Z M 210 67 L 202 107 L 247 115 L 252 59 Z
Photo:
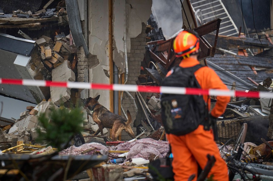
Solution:
M 75 73 L 70 69 L 69 61 L 64 60 L 61 65 L 52 70 L 52 81 L 75 81 Z M 66 87 L 50 87 L 51 99 L 56 105 L 61 105 L 70 99 L 70 89 Z

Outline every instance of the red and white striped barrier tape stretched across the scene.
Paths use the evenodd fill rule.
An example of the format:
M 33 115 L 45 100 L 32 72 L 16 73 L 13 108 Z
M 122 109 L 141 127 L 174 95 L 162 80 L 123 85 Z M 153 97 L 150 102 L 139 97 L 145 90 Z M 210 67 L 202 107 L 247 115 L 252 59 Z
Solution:
M 252 97 L 252 98 L 273 98 L 273 94 L 269 92 L 254 92 L 254 91 L 231 91 L 220 89 L 197 89 L 185 87 L 163 87 L 163 86 L 137 86 L 123 84 L 96 84 L 88 82 L 56 82 L 48 80 L 32 80 L 32 79 L 2 79 L 0 84 L 12 84 L 23 86 L 42 86 L 42 87 L 67 87 L 73 89 L 107 89 L 114 91 L 129 91 L 129 92 L 158 92 L 167 94 L 187 94 L 187 95 L 222 95 L 235 97 Z

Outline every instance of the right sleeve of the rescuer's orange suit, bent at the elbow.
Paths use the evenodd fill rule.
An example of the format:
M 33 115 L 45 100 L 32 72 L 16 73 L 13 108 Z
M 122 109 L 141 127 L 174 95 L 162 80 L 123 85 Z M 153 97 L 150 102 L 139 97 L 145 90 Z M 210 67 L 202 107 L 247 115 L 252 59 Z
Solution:
M 205 82 L 206 82 L 206 89 L 226 89 L 227 86 L 224 85 L 222 80 L 219 78 L 219 76 L 214 72 L 213 69 L 208 68 L 206 72 Z M 214 108 L 211 110 L 211 115 L 215 118 L 221 116 L 226 107 L 227 103 L 230 102 L 229 96 L 217 96 L 216 97 L 216 104 Z

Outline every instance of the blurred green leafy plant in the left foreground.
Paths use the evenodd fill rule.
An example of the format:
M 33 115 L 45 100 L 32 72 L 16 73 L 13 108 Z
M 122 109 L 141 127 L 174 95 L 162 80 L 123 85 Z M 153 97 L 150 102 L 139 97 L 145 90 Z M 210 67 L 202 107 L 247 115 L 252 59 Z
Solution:
M 37 128 L 39 140 L 49 142 L 52 147 L 63 149 L 72 137 L 83 130 L 83 112 L 80 108 L 67 109 L 64 106 L 53 109 L 50 115 L 41 114 L 39 121 L 45 129 Z

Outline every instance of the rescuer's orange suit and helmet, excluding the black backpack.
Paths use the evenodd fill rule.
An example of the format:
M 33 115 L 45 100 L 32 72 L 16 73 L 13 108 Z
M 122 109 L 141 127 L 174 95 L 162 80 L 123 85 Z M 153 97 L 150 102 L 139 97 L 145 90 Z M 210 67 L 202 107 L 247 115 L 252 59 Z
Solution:
M 174 40 L 174 52 L 176 57 L 181 58 L 179 66 L 192 67 L 199 64 L 197 56 L 199 53 L 199 38 L 195 33 L 182 31 Z M 172 71 L 167 73 L 169 76 Z M 227 89 L 219 76 L 213 69 L 203 66 L 194 73 L 201 89 Z M 203 96 L 204 101 L 210 105 L 210 99 L 207 95 Z M 210 116 L 217 118 L 223 114 L 230 97 L 217 96 L 215 107 L 211 110 Z M 210 108 L 208 108 L 210 110 Z M 219 149 L 214 142 L 212 131 L 204 130 L 204 126 L 200 124 L 198 128 L 186 135 L 177 136 L 168 134 L 167 139 L 171 146 L 174 156 L 172 166 L 174 179 L 176 181 L 186 181 L 195 174 L 196 181 L 198 165 L 203 170 L 207 163 L 207 154 L 213 155 L 216 159 L 214 166 L 211 168 L 208 177 L 213 174 L 213 179 L 217 181 L 228 181 L 228 171 L 225 161 L 221 158 Z

